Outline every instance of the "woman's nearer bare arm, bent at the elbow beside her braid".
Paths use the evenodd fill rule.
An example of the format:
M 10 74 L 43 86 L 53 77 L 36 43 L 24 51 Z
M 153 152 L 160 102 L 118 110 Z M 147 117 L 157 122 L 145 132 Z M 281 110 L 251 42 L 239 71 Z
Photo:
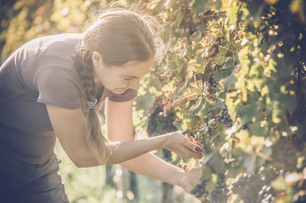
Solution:
M 55 134 L 70 159 L 78 167 L 99 165 L 86 141 L 86 121 L 82 110 L 80 108 L 65 109 L 48 104 L 47 109 Z M 122 131 L 122 133 L 126 132 Z M 176 142 L 173 142 L 172 139 Z M 186 141 L 179 134 L 166 134 L 142 140 L 112 141 L 109 144 L 114 150 L 107 164 L 123 162 L 163 147 L 195 148 L 194 144 Z

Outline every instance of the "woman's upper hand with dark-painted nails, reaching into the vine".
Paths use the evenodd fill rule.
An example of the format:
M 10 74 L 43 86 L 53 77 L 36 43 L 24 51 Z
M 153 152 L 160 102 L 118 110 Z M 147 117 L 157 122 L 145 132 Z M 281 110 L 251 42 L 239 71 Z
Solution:
M 184 136 L 179 132 L 170 132 L 167 134 L 163 148 L 173 151 L 183 159 L 202 158 L 201 151 L 203 146 L 199 143 L 194 143 L 188 136 Z

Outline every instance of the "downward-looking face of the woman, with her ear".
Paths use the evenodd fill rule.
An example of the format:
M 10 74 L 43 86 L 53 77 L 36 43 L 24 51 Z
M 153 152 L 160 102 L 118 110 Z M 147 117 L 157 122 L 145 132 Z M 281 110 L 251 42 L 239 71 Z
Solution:
M 143 62 L 129 61 L 122 66 L 103 65 L 101 55 L 94 52 L 92 55 L 95 80 L 105 88 L 121 94 L 129 88 L 137 90 L 140 78 L 146 74 L 154 62 L 154 57 Z

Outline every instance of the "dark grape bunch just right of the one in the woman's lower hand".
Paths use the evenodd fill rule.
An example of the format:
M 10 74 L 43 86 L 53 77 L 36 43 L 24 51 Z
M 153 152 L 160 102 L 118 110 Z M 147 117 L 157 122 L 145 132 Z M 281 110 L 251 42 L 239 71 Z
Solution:
M 212 203 L 223 203 L 227 202 L 229 189 L 225 184 L 225 175 L 224 173 L 219 173 L 215 188 L 211 193 Z

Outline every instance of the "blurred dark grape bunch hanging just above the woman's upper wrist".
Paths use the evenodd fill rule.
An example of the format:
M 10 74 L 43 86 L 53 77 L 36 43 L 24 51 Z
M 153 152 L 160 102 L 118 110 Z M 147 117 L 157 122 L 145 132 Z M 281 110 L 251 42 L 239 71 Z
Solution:
M 148 117 L 147 133 L 149 135 L 157 133 L 164 134 L 172 131 L 176 131 L 173 121 L 175 119 L 174 112 L 170 112 L 166 116 L 163 115 L 163 107 L 161 105 L 155 105 L 154 111 Z

